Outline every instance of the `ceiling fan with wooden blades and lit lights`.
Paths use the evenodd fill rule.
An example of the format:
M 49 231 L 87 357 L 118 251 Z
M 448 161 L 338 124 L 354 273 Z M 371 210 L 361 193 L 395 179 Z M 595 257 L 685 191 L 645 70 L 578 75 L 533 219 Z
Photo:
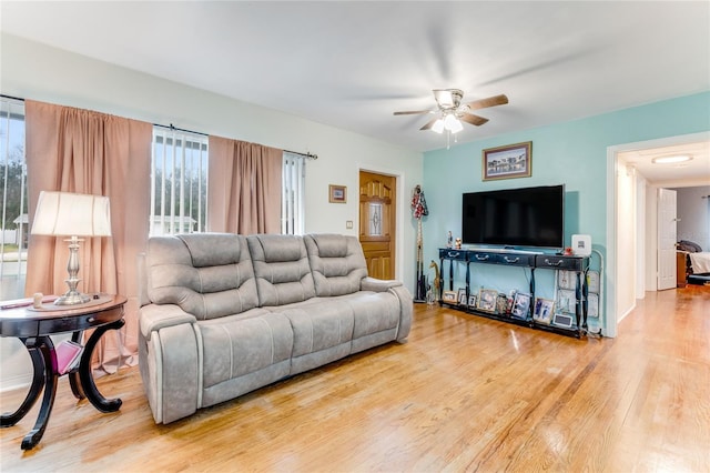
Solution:
M 504 105 L 508 103 L 505 94 L 489 97 L 487 99 L 474 100 L 462 103 L 464 91 L 459 89 L 434 89 L 434 99 L 437 108 L 432 110 L 414 110 L 394 112 L 395 115 L 414 115 L 424 113 L 437 113 L 438 115 L 429 120 L 419 130 L 432 130 L 442 133 L 444 130 L 450 133 L 458 133 L 464 129 L 462 121 L 480 127 L 488 119 L 470 113 L 471 110 L 487 109 L 489 107 Z

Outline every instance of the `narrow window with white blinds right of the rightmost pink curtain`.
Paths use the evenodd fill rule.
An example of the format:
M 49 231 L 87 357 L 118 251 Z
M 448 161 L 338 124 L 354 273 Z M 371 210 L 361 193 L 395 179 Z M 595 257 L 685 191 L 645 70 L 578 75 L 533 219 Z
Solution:
M 303 234 L 305 229 L 306 157 L 284 151 L 281 191 L 281 233 Z

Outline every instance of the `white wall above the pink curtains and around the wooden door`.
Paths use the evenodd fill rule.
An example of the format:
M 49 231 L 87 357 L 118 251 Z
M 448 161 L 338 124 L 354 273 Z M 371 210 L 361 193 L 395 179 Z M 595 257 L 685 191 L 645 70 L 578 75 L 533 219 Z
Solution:
M 159 124 L 316 153 L 306 167 L 306 232 L 357 234 L 358 169 L 387 169 L 399 177 L 406 195 L 422 182 L 422 153 L 349 131 L 315 123 L 153 76 L 119 68 L 44 44 L 2 34 L 0 93 L 97 110 Z M 260 80 L 254 77 L 254 80 Z M 288 78 L 284 78 L 288 80 Z M 347 185 L 346 204 L 328 203 L 328 184 Z M 414 289 L 416 233 L 407 199 L 399 199 L 396 276 Z M 353 230 L 345 222 L 355 222 Z M 412 255 L 412 258 L 407 258 Z M 2 340 L 2 343 L 7 342 Z M 29 368 L 8 366 L 2 351 L 3 382 Z M 28 356 L 29 362 L 29 356 Z M 16 366 L 17 368 L 17 366 Z M 24 371 L 23 371 L 24 370 Z

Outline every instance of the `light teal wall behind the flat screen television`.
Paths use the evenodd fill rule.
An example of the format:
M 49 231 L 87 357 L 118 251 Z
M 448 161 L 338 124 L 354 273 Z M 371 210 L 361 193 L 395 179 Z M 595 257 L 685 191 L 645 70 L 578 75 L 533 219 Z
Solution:
M 607 190 L 607 148 L 708 130 L 710 91 L 426 152 L 423 189 L 429 215 L 423 221 L 425 261 L 438 262 L 437 249 L 446 243 L 448 230 L 460 235 L 462 193 L 559 183 L 566 185 L 565 241 L 575 233 L 590 234 L 595 249 L 606 254 L 607 194 L 611 191 Z M 530 178 L 481 181 L 484 149 L 524 141 L 532 141 Z M 607 268 L 611 264 L 607 262 Z M 510 278 L 525 274 L 486 266 L 486 286 L 505 292 L 525 286 L 525 279 L 513 282 Z M 463 283 L 462 274 L 456 279 L 457 284 Z M 607 279 L 607 284 L 610 282 Z M 480 284 L 474 280 L 471 285 Z M 545 293 L 544 284 L 538 289 L 539 295 L 551 295 Z

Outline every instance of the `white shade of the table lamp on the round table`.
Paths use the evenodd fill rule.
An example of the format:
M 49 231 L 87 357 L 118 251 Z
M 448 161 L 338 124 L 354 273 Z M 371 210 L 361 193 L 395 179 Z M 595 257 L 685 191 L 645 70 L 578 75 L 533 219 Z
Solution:
M 32 234 L 111 236 L 109 198 L 70 192 L 40 192 Z

